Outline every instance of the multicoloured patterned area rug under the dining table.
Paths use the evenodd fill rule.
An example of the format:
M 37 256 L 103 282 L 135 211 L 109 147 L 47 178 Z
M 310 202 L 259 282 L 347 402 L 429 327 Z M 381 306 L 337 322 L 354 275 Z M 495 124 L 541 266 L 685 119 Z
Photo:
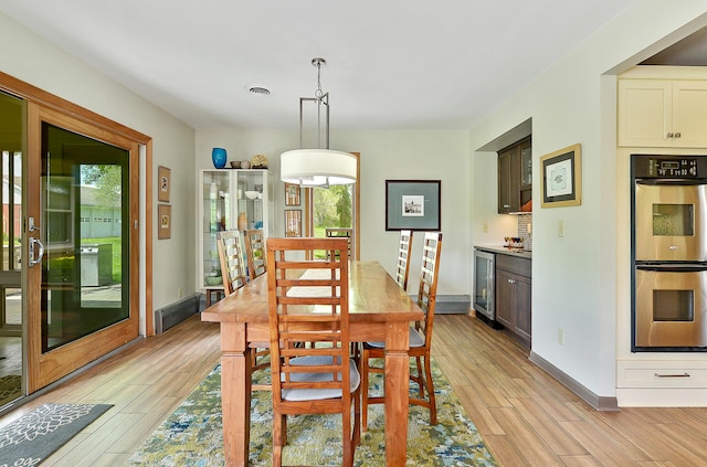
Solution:
M 411 406 L 408 423 L 409 466 L 497 466 L 474 423 L 454 395 L 434 361 L 437 425 L 430 425 L 429 412 Z M 258 372 L 260 373 L 260 372 Z M 381 386 L 381 375 L 372 375 Z M 272 397 L 267 391 L 253 393 L 251 411 L 250 466 L 272 463 Z M 383 406 L 369 407 L 369 427 L 356 448 L 356 466 L 384 466 Z M 283 449 L 286 465 L 338 465 L 341 459 L 341 421 L 336 415 L 291 417 L 288 444 Z M 161 426 L 128 459 L 126 466 L 222 466 L 221 372 L 217 367 Z

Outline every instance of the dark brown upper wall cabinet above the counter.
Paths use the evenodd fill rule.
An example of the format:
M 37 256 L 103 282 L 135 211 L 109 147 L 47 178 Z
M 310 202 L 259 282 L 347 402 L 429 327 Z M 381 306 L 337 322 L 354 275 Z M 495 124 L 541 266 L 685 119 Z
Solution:
M 498 151 L 498 213 L 521 212 L 532 198 L 530 138 Z

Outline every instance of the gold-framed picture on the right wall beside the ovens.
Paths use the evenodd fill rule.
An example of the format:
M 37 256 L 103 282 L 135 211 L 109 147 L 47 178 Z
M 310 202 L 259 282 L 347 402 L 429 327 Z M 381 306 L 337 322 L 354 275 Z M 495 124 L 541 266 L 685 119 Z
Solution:
M 582 203 L 581 145 L 540 158 L 542 208 L 577 206 Z

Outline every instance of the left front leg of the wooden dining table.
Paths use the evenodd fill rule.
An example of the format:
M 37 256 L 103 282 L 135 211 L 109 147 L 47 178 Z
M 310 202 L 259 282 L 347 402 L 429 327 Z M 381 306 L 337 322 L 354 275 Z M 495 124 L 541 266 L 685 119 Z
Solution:
M 221 407 L 228 467 L 247 466 L 253 368 L 245 336 L 245 323 L 221 322 Z

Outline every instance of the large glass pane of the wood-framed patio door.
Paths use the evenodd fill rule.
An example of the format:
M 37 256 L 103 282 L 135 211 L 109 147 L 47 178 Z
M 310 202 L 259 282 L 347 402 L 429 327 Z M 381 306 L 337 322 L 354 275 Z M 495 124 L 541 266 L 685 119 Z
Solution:
M 42 125 L 42 352 L 129 317 L 129 151 Z

